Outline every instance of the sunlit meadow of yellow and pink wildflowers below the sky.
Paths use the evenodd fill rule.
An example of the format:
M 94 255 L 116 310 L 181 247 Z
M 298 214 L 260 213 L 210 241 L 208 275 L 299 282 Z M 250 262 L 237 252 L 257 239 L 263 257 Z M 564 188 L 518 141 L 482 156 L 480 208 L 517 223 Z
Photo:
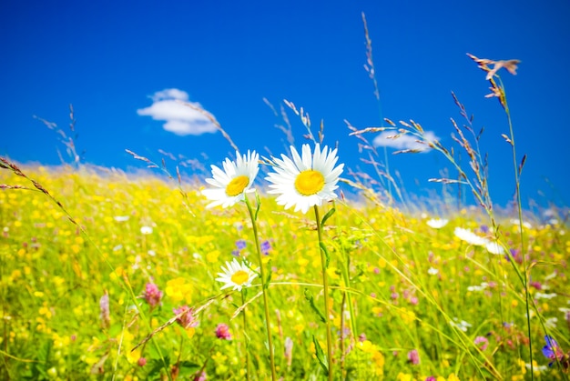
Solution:
M 23 172 L 63 208 L 0 171 L 0 184 L 12 187 L 0 191 L 0 378 L 270 378 L 260 276 L 241 292 L 220 290 L 217 280 L 234 258 L 256 264 L 244 269 L 257 274 L 244 203 L 206 209 L 203 185 L 181 196 L 151 175 Z M 328 357 L 317 224 L 272 196 L 259 202 L 275 372 L 320 379 L 319 358 Z M 523 262 L 516 221 L 500 221 L 509 257 L 490 244 L 493 232 L 474 209 L 437 219 L 336 200 L 322 215 L 333 207 L 322 241 L 335 379 L 526 379 L 529 338 L 535 376 L 565 376 L 542 353 L 545 329 L 558 355 L 570 347 L 570 240 L 555 216 L 524 223 L 539 313 L 531 309 L 529 337 L 510 261 Z

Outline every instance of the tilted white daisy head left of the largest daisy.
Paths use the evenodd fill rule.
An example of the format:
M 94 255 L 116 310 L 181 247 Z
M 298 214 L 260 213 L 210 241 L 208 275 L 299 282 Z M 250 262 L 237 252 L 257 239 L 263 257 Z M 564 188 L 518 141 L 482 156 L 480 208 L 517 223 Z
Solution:
M 236 151 L 236 156 L 235 162 L 226 158 L 222 163 L 223 171 L 218 166 L 211 165 L 213 178 L 207 178 L 206 182 L 214 188 L 202 190 L 202 195 L 213 202 L 206 207 L 233 206 L 251 190 L 249 188 L 260 171 L 260 155 L 248 151 L 248 155 L 242 156 Z

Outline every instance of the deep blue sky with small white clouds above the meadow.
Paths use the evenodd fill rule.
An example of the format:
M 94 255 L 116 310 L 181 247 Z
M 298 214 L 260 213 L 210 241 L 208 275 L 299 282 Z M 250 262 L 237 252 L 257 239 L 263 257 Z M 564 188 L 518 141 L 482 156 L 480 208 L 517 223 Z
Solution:
M 76 115 L 76 145 L 87 163 L 140 167 L 130 149 L 160 161 L 159 150 L 219 164 L 232 151 L 207 119 L 180 109 L 188 100 L 215 115 L 242 151 L 285 152 L 278 111 L 287 99 L 309 112 L 341 161 L 362 170 L 357 128 L 380 125 L 371 79 L 363 68 L 366 14 L 381 90 L 382 116 L 420 123 L 452 145 L 450 117 L 461 120 L 453 91 L 484 125 L 491 192 L 513 196 L 508 125 L 484 73 L 465 55 L 520 59 L 518 74 L 500 72 L 514 121 L 519 160 L 528 156 L 523 198 L 569 202 L 570 3 L 423 1 L 192 1 L 0 3 L 0 155 L 58 164 L 54 131 Z M 295 145 L 306 132 L 288 112 Z M 198 129 L 197 129 L 198 128 Z M 198 134 L 199 133 L 199 134 Z M 369 135 L 372 141 L 374 135 Z M 379 140 L 377 139 L 378 143 Z M 389 149 L 389 153 L 393 151 Z M 381 149 L 382 152 L 382 149 Z M 383 157 L 383 154 L 382 154 Z M 168 157 L 167 164 L 176 162 Z M 427 180 L 450 167 L 441 155 L 389 155 L 410 194 L 440 190 Z M 372 172 L 371 172 L 372 173 Z

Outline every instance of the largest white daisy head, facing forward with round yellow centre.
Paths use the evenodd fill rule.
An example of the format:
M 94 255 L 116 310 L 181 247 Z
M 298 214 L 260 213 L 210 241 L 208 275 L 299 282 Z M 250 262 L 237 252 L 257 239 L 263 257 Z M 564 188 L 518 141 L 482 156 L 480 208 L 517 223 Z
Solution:
M 275 172 L 266 180 L 272 183 L 269 193 L 278 194 L 277 204 L 289 209 L 295 206 L 295 212 L 307 213 L 310 206 L 321 206 L 322 202 L 331 201 L 337 196 L 334 190 L 339 186 L 339 176 L 344 164 L 334 166 L 339 159 L 337 150 L 315 145 L 315 152 L 310 152 L 310 145 L 302 146 L 302 156 L 291 146 L 293 159 L 281 155 L 274 159 Z

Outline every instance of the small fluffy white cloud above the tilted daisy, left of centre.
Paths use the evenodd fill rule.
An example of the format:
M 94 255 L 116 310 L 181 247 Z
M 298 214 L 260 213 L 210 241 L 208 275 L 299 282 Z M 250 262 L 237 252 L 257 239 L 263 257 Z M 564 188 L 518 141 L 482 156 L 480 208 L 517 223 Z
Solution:
M 179 101 L 188 102 L 188 93 L 177 88 L 168 88 L 151 95 L 152 105 L 137 110 L 138 115 L 150 116 L 154 120 L 164 121 L 162 127 L 176 135 L 202 135 L 215 133 L 214 125 L 206 115 Z M 189 104 L 202 108 L 196 102 Z

